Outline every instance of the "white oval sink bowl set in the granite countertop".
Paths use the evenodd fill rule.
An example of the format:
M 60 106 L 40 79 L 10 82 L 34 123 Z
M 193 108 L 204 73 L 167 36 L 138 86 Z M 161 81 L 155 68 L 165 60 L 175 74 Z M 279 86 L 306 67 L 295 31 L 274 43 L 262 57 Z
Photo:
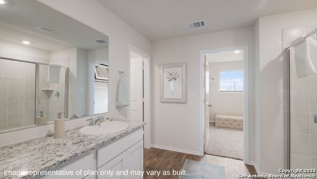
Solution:
M 85 126 L 81 128 L 79 131 L 83 134 L 89 135 L 100 135 L 100 134 L 108 134 L 120 130 L 124 130 L 128 127 L 128 123 L 122 121 L 109 121 L 103 122 L 97 126 Z

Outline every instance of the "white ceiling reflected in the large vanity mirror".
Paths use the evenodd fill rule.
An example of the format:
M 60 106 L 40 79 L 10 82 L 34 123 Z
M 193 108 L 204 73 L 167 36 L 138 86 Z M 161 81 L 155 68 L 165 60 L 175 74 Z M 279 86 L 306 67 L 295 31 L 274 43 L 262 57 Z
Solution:
M 48 51 L 79 47 L 83 49 L 107 48 L 94 40 L 108 42 L 108 37 L 95 29 L 38 2 L 37 0 L 6 0 L 0 4 L 0 40 Z M 53 33 L 35 30 L 38 26 L 52 29 Z

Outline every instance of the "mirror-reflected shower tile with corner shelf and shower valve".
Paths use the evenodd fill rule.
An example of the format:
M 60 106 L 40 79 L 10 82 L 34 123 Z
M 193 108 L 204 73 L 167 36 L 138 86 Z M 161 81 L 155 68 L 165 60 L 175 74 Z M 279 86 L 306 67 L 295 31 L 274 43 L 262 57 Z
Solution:
M 39 67 L 39 110 L 44 111 L 44 115 L 49 117 L 49 121 L 57 118 L 58 112 L 64 112 L 65 107 L 65 69 L 61 68 L 59 83 L 49 84 L 48 66 L 40 65 Z M 59 92 L 59 97 L 55 95 Z

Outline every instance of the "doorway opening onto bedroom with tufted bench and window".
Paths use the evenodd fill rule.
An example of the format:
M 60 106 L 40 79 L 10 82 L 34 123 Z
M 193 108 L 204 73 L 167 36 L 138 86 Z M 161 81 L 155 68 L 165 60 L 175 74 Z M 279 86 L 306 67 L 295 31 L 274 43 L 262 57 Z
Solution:
M 247 46 L 200 53 L 204 153 L 248 163 Z

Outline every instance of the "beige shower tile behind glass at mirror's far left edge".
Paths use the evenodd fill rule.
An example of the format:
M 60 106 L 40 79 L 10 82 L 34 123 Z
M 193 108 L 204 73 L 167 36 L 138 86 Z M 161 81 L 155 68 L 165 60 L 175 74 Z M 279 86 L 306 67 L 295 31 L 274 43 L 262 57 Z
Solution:
M 35 68 L 0 59 L 0 130 L 35 124 Z

